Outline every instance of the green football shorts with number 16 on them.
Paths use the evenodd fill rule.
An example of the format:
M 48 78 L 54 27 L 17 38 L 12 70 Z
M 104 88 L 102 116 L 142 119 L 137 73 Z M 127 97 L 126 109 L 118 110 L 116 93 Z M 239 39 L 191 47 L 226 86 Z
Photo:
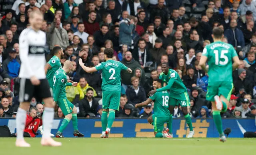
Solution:
M 190 106 L 190 100 L 188 96 L 188 92 L 175 94 L 169 97 L 169 105 L 175 106 L 180 105 L 181 107 Z

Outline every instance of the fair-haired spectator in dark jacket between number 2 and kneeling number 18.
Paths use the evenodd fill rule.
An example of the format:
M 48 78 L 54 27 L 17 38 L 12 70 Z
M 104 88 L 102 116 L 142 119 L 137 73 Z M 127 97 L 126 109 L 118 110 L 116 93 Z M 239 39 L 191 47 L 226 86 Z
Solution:
M 131 78 L 132 86 L 126 89 L 126 95 L 128 101 L 130 101 L 133 105 L 137 103 L 141 103 L 146 100 L 146 93 L 143 87 L 139 86 L 139 78 L 132 77 Z

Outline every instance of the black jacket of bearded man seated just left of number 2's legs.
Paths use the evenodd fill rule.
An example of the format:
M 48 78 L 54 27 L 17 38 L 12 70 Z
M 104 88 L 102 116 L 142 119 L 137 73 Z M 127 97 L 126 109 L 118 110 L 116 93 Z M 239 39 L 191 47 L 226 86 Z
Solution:
M 85 117 L 87 113 L 94 113 L 97 115 L 97 108 L 98 108 L 98 101 L 92 97 L 92 107 L 90 107 L 89 101 L 87 100 L 86 96 L 84 96 L 84 99 L 81 99 L 79 102 L 79 111 L 80 116 Z

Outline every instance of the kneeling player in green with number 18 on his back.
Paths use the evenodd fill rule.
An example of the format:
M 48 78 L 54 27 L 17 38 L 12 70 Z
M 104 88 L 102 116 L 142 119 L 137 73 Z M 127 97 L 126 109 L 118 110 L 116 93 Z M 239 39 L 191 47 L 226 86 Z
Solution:
M 161 83 L 161 79 L 154 79 L 154 89 L 161 88 Z M 172 136 L 168 134 L 169 129 L 164 127 L 164 123 L 168 123 L 170 116 L 168 100 L 169 93 L 167 91 L 160 91 L 156 92 L 154 95 L 151 95 L 146 101 L 135 105 L 136 108 L 143 107 L 154 101 L 154 114 L 152 115 L 152 118 L 154 120 L 154 134 L 156 138 L 172 138 Z

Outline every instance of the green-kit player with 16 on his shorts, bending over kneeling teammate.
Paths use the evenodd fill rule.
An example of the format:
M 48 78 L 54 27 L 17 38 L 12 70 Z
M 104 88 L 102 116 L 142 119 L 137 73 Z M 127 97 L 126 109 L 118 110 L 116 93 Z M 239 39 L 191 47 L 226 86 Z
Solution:
M 170 97 L 169 97 L 170 113 L 172 113 L 176 105 L 181 105 L 182 112 L 184 114 L 184 117 L 186 119 L 186 122 L 190 130 L 190 132 L 188 133 L 188 138 L 192 138 L 194 135 L 194 130 L 193 130 L 190 115 L 188 114 L 188 106 L 190 106 L 190 100 L 189 100 L 187 88 L 183 84 L 178 73 L 175 70 L 169 69 L 169 66 L 167 63 L 162 64 L 162 71 L 163 73 L 169 74 L 168 84 L 162 88 L 151 90 L 148 93 L 148 95 L 153 95 L 154 93 L 160 92 L 160 91 L 170 90 Z M 169 122 L 169 123 L 172 123 L 172 122 Z

